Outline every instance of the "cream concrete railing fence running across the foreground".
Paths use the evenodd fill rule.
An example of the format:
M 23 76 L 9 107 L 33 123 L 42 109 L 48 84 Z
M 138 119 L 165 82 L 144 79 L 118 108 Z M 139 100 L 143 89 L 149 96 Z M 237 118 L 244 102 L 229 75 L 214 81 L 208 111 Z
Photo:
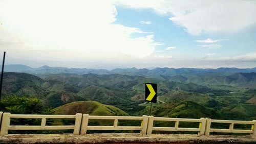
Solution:
M 39 126 L 14 126 L 10 125 L 11 118 L 36 118 L 41 119 Z M 75 124 L 71 126 L 46 126 L 47 118 L 74 118 Z M 90 119 L 113 120 L 113 126 L 89 126 Z M 141 126 L 118 126 L 118 120 L 141 121 Z M 174 127 L 155 127 L 154 122 L 174 122 Z M 0 135 L 7 135 L 8 130 L 74 130 L 73 134 L 86 134 L 87 130 L 139 130 L 142 135 L 150 135 L 152 131 L 186 131 L 198 132 L 198 135 L 209 135 L 210 133 L 248 133 L 256 138 L 256 121 L 227 121 L 210 118 L 169 118 L 154 116 L 96 116 L 77 113 L 75 115 L 40 115 L 40 114 L 11 114 L 0 112 L 1 129 Z M 198 128 L 179 127 L 179 122 L 198 123 Z M 229 124 L 229 129 L 211 128 L 212 123 Z M 244 124 L 251 126 L 251 129 L 234 129 L 234 125 Z

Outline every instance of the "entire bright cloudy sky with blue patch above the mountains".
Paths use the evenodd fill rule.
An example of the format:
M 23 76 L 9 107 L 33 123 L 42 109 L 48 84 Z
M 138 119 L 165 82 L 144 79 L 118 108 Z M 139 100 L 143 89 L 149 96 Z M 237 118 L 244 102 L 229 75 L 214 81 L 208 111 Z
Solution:
M 77 68 L 256 67 L 256 1 L 0 0 L 0 61 Z

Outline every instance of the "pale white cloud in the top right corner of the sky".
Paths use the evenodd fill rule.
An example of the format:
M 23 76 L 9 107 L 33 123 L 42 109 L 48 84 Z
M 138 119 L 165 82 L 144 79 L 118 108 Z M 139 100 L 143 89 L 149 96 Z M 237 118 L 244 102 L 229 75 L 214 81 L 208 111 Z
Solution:
M 254 1 L 123 0 L 116 3 L 135 9 L 153 9 L 160 15 L 170 15 L 172 17 L 169 20 L 193 35 L 237 32 L 256 25 Z

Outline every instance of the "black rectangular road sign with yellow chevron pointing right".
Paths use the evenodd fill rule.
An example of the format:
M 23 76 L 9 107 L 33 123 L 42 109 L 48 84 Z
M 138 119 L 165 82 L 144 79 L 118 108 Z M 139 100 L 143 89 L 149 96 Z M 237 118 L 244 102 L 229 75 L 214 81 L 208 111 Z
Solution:
M 145 100 L 157 103 L 157 84 L 145 83 Z

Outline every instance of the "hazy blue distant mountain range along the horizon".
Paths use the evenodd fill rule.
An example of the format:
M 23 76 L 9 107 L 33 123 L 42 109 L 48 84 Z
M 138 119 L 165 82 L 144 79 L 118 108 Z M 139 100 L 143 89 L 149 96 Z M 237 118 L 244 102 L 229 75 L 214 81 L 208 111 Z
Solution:
M 219 76 L 227 76 L 234 73 L 256 73 L 256 68 L 227 68 L 221 67 L 217 69 L 212 68 L 167 68 L 157 67 L 154 69 L 137 69 L 133 68 L 116 68 L 113 70 L 106 69 L 87 69 L 87 68 L 67 68 L 67 67 L 50 67 L 41 66 L 38 68 L 32 68 L 21 64 L 11 64 L 5 66 L 5 71 L 10 72 L 24 72 L 29 74 L 97 74 L 97 75 L 110 75 L 110 74 L 121 74 L 129 76 L 143 76 L 150 78 L 159 78 L 161 76 L 184 76 L 191 77 L 204 73 L 217 74 Z

